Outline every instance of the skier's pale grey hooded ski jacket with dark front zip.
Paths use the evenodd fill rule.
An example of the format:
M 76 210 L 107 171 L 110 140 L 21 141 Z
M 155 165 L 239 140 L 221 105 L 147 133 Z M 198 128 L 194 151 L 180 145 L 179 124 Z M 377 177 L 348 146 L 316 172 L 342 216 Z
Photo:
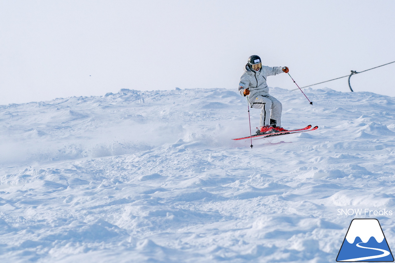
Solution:
M 244 96 L 243 91 L 246 88 L 250 90 L 250 94 L 248 95 L 248 101 L 250 101 L 251 105 L 254 103 L 256 97 L 261 95 L 269 95 L 269 87 L 266 84 L 267 76 L 284 73 L 284 71 L 282 71 L 282 67 L 268 66 L 262 66 L 262 68 L 258 72 L 254 72 L 250 70 L 248 64 L 245 66 L 244 70 L 245 72 L 240 78 L 239 92 L 242 96 Z

